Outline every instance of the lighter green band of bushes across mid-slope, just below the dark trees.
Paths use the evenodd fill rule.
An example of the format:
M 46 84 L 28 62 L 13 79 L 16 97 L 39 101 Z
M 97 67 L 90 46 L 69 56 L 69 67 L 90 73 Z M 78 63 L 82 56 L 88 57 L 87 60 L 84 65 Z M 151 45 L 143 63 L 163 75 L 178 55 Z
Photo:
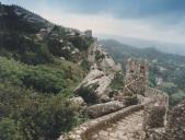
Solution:
M 68 71 L 69 66 L 72 78 Z M 54 65 L 27 66 L 0 57 L 0 71 L 1 82 L 8 81 L 44 93 L 62 93 L 62 90 L 76 85 L 82 79 L 80 68 L 65 60 Z

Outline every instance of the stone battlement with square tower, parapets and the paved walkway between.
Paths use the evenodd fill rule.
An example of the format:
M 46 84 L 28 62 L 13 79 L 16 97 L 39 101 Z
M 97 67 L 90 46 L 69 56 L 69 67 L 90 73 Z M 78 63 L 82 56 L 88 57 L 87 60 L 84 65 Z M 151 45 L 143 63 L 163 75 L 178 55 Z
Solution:
M 126 69 L 126 85 L 123 89 L 123 93 L 118 97 L 124 98 L 126 96 L 128 97 L 135 95 L 137 97 L 138 95 L 141 97 L 140 104 L 131 105 L 115 113 L 89 120 L 66 136 L 61 136 L 58 140 L 91 140 L 92 137 L 94 140 L 102 140 L 102 130 L 106 130 L 102 137 L 106 137 L 107 139 L 113 138 L 115 140 L 119 140 L 124 137 L 126 139 L 134 140 L 148 140 L 148 136 L 151 136 L 152 128 L 164 127 L 166 121 L 166 110 L 169 107 L 169 96 L 166 93 L 160 90 L 148 86 L 149 68 L 147 62 L 129 59 L 127 61 Z M 144 100 L 147 102 L 144 102 Z M 99 106 L 102 107 L 104 105 Z M 137 126 L 138 117 L 139 126 Z M 127 119 L 129 121 L 127 121 Z M 137 127 L 135 127 L 135 122 Z M 126 127 L 128 127 L 128 129 L 130 128 L 130 130 L 126 130 L 127 128 L 125 129 L 123 128 L 124 126 L 122 127 L 122 125 L 126 124 L 134 124 L 134 127 L 131 126 L 130 128 L 130 126 L 127 125 Z M 127 135 L 122 135 L 120 137 L 115 136 L 116 133 L 109 131 L 109 129 L 112 130 L 109 126 L 114 125 L 117 126 L 114 129 L 122 133 L 126 132 Z M 122 129 L 125 129 L 125 131 L 120 131 L 119 127 L 122 127 Z M 130 131 L 132 132 L 130 133 Z M 140 131 L 139 135 L 137 135 L 138 131 Z M 161 133 L 157 132 L 157 135 Z M 138 138 L 135 138 L 135 136 Z

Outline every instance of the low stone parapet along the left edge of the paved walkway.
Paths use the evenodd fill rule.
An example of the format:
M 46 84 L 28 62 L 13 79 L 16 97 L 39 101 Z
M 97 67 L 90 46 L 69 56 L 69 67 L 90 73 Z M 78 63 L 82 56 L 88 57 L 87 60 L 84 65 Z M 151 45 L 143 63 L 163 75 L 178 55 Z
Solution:
M 58 140 L 86 140 L 89 133 L 105 128 L 106 126 L 143 108 L 143 105 L 132 105 L 127 108 L 120 109 L 116 113 L 92 119 L 83 125 L 74 128 L 71 132 L 66 136 L 60 136 Z

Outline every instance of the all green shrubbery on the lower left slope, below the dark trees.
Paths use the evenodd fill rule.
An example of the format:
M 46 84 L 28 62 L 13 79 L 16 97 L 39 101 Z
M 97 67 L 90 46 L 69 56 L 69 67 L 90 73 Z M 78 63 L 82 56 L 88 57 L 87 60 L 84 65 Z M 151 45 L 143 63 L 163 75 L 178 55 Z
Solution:
M 68 74 L 69 66 L 72 79 Z M 0 129 L 9 131 L 0 139 L 56 139 L 78 124 L 79 107 L 63 97 L 71 96 L 82 79 L 77 66 L 65 60 L 27 66 L 0 57 Z

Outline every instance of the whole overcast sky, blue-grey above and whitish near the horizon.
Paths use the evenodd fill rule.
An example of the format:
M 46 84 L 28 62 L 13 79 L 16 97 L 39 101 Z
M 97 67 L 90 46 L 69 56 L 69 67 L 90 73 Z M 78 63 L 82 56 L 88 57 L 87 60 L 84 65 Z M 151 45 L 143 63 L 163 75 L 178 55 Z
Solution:
M 69 27 L 185 44 L 185 0 L 0 0 Z

